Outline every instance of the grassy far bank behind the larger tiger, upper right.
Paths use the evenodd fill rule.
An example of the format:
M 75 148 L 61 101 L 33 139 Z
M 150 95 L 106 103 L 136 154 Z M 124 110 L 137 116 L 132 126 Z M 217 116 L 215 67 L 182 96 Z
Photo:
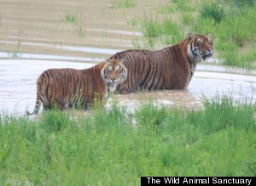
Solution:
M 156 48 L 159 42 L 161 48 L 175 44 L 187 32 L 211 32 L 215 57 L 222 59 L 224 65 L 255 69 L 256 1 L 191 2 L 172 0 L 169 5 L 157 7 L 155 14 L 144 14 L 140 21 L 141 31 L 144 37 L 155 38 L 154 46 L 150 47 Z

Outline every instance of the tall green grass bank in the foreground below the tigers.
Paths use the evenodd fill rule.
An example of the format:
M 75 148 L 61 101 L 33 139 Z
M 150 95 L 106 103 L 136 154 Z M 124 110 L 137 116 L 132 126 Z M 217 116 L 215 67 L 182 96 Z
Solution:
M 139 185 L 141 176 L 256 176 L 255 105 L 134 113 L 113 105 L 75 117 L 1 116 L 0 184 Z

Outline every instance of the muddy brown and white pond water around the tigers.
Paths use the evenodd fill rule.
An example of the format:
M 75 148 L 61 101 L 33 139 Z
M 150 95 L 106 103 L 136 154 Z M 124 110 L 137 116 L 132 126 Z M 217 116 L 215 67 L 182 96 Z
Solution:
M 135 8 L 113 8 L 113 1 L 0 0 L 0 110 L 24 113 L 36 99 L 36 80 L 49 68 L 83 69 L 143 40 L 131 21 L 154 14 L 169 1 L 137 1 Z M 65 20 L 72 13 L 76 21 Z M 163 46 L 161 46 L 163 47 Z M 161 48 L 160 47 L 160 48 Z M 117 95 L 133 110 L 143 101 L 200 108 L 202 97 L 229 94 L 256 101 L 256 72 L 198 65 L 185 91 Z M 107 107 L 110 106 L 109 99 Z

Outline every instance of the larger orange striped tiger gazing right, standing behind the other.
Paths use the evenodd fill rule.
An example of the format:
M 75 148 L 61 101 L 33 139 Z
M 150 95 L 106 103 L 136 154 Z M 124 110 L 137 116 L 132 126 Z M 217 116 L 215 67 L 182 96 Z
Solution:
M 124 59 L 128 76 L 117 90 L 121 94 L 137 90 L 186 89 L 195 66 L 213 54 L 211 34 L 187 34 L 177 44 L 156 51 L 127 50 L 109 59 Z

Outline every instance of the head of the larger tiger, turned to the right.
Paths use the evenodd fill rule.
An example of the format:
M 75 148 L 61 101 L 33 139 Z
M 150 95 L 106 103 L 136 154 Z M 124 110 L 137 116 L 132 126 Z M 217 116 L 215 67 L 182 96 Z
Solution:
M 207 35 L 193 35 L 189 33 L 187 35 L 187 40 L 189 41 L 187 53 L 189 58 L 194 59 L 195 62 L 200 62 L 201 59 L 205 60 L 212 57 L 214 47 L 211 37 L 211 33 Z

